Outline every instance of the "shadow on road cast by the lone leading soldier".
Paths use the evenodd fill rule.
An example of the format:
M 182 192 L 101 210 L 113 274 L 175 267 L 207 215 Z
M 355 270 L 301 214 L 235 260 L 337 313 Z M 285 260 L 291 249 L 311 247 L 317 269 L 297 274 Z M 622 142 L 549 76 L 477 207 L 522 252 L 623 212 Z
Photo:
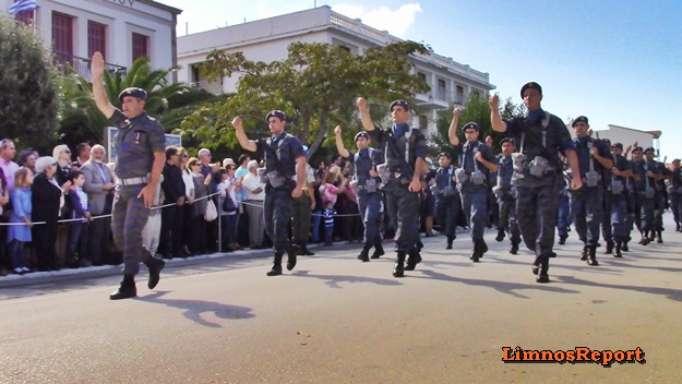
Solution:
M 205 301 L 205 300 L 182 300 L 182 299 L 164 299 L 164 295 L 170 293 L 170 291 L 156 291 L 152 295 L 139 297 L 137 300 L 153 302 L 156 304 L 164 304 L 171 308 L 186 310 L 184 317 L 198 323 L 199 325 L 208 326 L 212 328 L 222 328 L 223 326 L 217 323 L 212 323 L 205 319 L 202 319 L 203 313 L 215 313 L 220 319 L 252 319 L 255 314 L 251 313 L 251 309 L 248 307 L 223 304 L 219 302 Z

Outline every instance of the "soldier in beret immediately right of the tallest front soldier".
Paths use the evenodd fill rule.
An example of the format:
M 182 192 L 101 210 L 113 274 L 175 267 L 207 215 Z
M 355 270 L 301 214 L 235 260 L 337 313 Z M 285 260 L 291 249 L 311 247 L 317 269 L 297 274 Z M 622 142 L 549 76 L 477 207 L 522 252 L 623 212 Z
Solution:
M 581 260 L 587 265 L 599 265 L 599 226 L 603 216 L 603 190 L 601 176 L 605 169 L 613 167 L 609 147 L 601 140 L 594 140 L 587 132 L 586 117 L 578 116 L 571 123 L 575 132 L 575 152 L 583 179 L 583 188 L 571 191 L 571 212 L 575 220 L 575 231 L 583 241 Z

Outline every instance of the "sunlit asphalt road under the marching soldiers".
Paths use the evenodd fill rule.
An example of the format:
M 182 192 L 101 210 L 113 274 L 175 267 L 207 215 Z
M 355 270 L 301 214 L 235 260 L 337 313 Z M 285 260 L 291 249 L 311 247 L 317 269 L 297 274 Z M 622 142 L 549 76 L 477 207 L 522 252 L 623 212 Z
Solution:
M 478 264 L 466 233 L 452 251 L 423 239 L 405 278 L 392 257 L 357 261 L 358 244 L 277 277 L 263 252 L 174 260 L 121 301 L 116 267 L 0 278 L 0 383 L 680 383 L 682 233 L 667 227 L 663 244 L 598 267 L 571 232 L 548 285 L 493 230 Z M 645 362 L 503 362 L 517 346 L 639 348 Z

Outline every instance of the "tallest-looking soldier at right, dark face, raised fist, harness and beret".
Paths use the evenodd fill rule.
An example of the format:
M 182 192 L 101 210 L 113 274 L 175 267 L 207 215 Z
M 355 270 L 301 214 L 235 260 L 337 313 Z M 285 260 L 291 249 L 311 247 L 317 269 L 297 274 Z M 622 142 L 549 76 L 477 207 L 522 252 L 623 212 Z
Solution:
M 564 153 L 573 171 L 571 188 L 583 187 L 575 146 L 569 129 L 557 116 L 542 110 L 542 87 L 526 83 L 521 97 L 528 112 L 513 120 L 502 120 L 500 95 L 490 97 L 490 120 L 496 132 L 512 136 L 518 153 L 512 155 L 512 182 L 518 191 L 516 213 L 518 228 L 526 247 L 535 251 L 533 273 L 538 283 L 549 283 L 549 259 L 557 256 L 554 226 L 557 225 L 558 178 L 561 177 L 560 153 Z

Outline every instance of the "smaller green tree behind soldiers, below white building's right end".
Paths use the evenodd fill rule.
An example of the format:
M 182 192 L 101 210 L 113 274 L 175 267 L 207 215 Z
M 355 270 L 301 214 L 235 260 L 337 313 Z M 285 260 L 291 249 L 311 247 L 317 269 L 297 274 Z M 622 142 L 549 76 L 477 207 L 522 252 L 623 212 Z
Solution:
M 454 106 L 451 108 L 442 110 L 439 112 L 438 121 L 436 121 L 436 131 L 431 135 L 432 142 L 432 152 L 448 152 L 453 156 L 455 155 L 452 145 L 450 144 L 450 139 L 447 137 L 450 123 L 453 118 Z M 512 98 L 507 98 L 504 100 L 504 104 L 501 108 L 500 115 L 502 119 L 513 119 L 518 116 L 523 116 L 525 113 L 525 107 L 523 104 L 516 105 L 512 103 Z M 488 104 L 488 96 L 486 97 L 476 97 L 472 96 L 469 98 L 464 107 L 462 108 L 462 115 L 459 116 L 459 127 L 457 127 L 457 135 L 459 140 L 464 142 L 464 134 L 459 131 L 464 124 L 468 122 L 476 122 L 481 131 L 478 139 L 481 142 L 486 141 L 486 137 L 490 136 L 493 140 L 492 148 L 495 152 L 500 152 L 500 140 L 504 136 L 500 132 L 495 132 L 492 129 L 492 124 L 490 122 L 490 104 Z M 456 157 L 453 157 L 456 158 Z M 455 160 L 456 161 L 456 160 Z

